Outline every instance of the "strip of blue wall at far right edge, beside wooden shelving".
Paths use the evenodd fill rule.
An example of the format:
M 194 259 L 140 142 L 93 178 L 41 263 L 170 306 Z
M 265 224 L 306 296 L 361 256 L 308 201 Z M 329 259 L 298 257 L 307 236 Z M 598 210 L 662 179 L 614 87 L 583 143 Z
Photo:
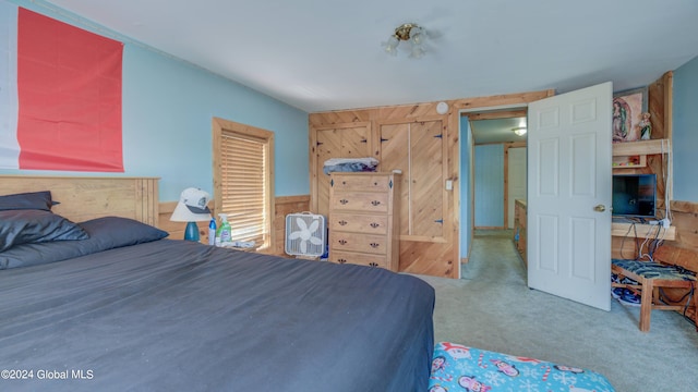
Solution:
M 674 200 L 698 203 L 698 57 L 674 71 Z

